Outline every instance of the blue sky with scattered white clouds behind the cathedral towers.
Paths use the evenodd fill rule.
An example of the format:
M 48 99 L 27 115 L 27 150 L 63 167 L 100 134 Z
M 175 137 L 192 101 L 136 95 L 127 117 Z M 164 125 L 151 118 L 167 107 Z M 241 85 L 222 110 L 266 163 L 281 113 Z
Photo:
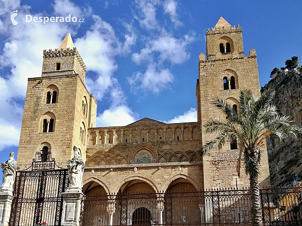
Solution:
M 301 12 L 300 0 L 0 0 L 0 162 L 18 150 L 27 78 L 41 76 L 43 49 L 58 48 L 68 32 L 87 65 L 97 126 L 144 117 L 190 122 L 197 121 L 198 54 L 205 53 L 207 28 L 220 16 L 242 26 L 244 50 L 256 49 L 263 86 L 274 67 L 302 59 Z M 70 14 L 85 22 L 26 23 L 26 14 Z

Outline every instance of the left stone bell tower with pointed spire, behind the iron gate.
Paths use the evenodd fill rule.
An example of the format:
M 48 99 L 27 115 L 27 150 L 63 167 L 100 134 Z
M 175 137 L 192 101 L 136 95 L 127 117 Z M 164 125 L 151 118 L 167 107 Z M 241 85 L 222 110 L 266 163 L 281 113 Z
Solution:
M 42 76 L 28 78 L 18 150 L 21 169 L 48 150 L 65 167 L 77 146 L 86 160 L 87 131 L 97 102 L 85 86 L 86 65 L 68 33 L 58 49 L 43 51 Z

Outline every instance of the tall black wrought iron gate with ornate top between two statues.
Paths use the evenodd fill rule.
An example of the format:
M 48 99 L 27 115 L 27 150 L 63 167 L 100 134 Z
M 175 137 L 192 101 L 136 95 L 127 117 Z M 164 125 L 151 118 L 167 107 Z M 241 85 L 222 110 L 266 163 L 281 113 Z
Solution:
M 67 175 L 68 170 L 55 164 L 51 152 L 37 152 L 29 168 L 17 171 L 9 225 L 34 226 L 46 221 L 48 226 L 59 226 Z

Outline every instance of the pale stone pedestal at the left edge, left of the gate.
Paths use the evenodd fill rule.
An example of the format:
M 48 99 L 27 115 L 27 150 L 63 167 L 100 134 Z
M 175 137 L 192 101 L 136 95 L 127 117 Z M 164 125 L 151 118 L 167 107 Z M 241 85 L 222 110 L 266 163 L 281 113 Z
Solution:
M 13 192 L 0 188 L 0 226 L 8 226 L 11 216 Z

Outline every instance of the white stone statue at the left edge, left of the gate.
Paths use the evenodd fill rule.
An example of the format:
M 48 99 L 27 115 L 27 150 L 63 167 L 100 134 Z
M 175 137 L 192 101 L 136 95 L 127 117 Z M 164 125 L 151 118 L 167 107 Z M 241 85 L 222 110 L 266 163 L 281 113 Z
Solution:
M 13 190 L 17 171 L 17 162 L 14 159 L 14 156 L 15 153 L 11 152 L 9 160 L 1 164 L 3 171 L 3 183 L 1 188 Z

